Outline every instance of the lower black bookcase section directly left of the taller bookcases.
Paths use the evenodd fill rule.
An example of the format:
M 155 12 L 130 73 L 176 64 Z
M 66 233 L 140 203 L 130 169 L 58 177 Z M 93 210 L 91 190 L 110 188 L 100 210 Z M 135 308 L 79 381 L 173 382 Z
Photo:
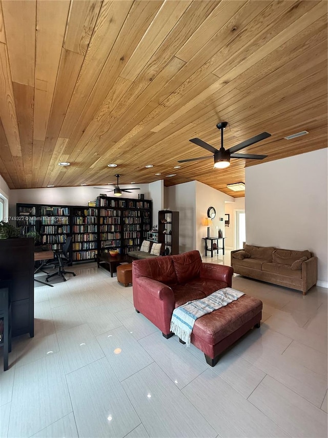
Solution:
M 98 248 L 98 208 L 72 207 L 72 260 L 92 260 Z

